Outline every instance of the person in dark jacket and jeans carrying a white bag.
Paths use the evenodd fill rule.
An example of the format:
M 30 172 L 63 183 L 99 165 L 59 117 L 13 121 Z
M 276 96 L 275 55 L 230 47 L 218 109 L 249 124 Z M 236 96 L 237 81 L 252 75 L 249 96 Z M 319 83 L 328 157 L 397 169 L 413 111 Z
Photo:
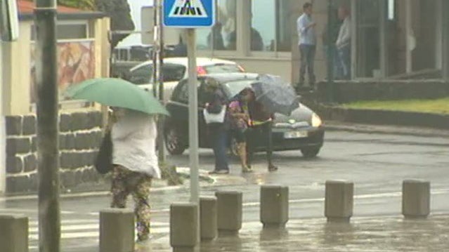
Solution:
M 208 79 L 207 93 L 210 93 L 209 102 L 206 104 L 207 112 L 211 114 L 219 114 L 221 110 L 226 110 L 228 98 L 224 91 L 220 88 L 218 82 Z M 210 174 L 228 174 L 228 135 L 229 135 L 229 115 L 226 112 L 223 123 L 207 124 L 209 138 L 212 140 L 212 149 L 215 156 L 215 168 Z

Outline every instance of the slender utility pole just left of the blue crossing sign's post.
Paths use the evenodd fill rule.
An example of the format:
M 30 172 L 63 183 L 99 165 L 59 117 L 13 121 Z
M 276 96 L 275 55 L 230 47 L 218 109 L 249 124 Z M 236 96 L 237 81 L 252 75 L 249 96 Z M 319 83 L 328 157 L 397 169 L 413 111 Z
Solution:
M 163 51 L 164 43 L 162 37 L 162 0 L 154 0 L 154 41 L 152 44 L 152 66 L 153 66 L 153 81 L 152 91 L 155 97 L 159 96 L 159 100 L 164 105 L 164 76 L 162 72 L 162 65 L 164 63 Z M 157 146 L 158 146 L 158 160 L 160 164 L 165 163 L 165 145 L 164 145 L 164 117 L 160 116 L 157 119 Z

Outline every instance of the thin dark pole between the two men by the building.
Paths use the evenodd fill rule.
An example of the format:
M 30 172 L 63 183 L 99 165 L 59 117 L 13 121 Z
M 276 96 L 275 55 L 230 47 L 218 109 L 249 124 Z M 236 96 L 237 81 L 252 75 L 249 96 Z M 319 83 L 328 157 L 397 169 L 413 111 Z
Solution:
M 327 0 L 327 102 L 334 102 L 334 43 L 332 41 L 332 29 L 334 16 L 332 0 Z

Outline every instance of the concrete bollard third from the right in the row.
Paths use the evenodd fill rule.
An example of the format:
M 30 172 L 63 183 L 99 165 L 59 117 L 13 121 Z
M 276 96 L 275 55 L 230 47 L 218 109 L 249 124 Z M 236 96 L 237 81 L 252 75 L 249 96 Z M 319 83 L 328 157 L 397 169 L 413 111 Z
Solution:
M 288 187 L 261 186 L 260 218 L 263 227 L 285 227 L 288 221 Z

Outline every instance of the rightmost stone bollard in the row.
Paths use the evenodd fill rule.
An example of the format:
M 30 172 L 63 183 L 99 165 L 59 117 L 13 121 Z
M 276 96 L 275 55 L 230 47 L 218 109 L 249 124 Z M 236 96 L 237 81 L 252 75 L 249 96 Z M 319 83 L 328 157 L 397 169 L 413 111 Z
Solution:
M 430 213 L 430 182 L 404 180 L 402 184 L 402 214 L 405 218 L 426 218 Z

